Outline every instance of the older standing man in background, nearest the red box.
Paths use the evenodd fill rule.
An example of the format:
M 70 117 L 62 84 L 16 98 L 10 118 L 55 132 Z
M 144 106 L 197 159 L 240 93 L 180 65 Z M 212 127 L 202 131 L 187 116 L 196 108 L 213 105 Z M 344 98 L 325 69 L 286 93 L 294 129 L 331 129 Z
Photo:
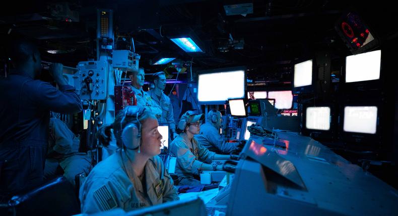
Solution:
M 132 72 L 129 78 L 131 80 L 131 89 L 134 91 L 137 98 L 137 105 L 147 107 L 147 110 L 152 112 L 159 120 L 162 116 L 162 109 L 153 101 L 148 92 L 143 90 L 145 79 L 144 68 L 140 67 L 138 72 Z

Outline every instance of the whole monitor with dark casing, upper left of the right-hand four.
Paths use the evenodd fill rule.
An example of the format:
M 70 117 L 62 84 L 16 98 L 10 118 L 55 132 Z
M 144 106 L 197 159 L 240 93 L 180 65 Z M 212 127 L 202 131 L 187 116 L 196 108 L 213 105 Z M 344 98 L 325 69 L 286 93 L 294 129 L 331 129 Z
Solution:
M 293 93 L 300 94 L 300 93 L 313 92 L 312 65 L 313 65 L 312 59 L 294 65 Z

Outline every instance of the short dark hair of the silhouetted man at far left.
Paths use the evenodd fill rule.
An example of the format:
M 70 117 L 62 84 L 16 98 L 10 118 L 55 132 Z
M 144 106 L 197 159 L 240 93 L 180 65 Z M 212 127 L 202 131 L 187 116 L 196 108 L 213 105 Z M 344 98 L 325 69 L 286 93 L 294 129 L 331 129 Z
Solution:
M 27 40 L 13 40 L 6 47 L 7 57 L 16 65 L 26 63 L 36 53 L 40 53 L 37 46 Z

